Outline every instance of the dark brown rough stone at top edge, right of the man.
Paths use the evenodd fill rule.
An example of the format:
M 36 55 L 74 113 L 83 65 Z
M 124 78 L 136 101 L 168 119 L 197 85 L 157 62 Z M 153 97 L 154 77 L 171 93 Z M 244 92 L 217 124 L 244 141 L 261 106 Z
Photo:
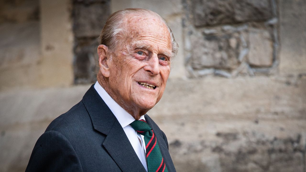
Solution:
M 193 0 L 192 13 L 197 27 L 266 21 L 273 17 L 268 0 Z

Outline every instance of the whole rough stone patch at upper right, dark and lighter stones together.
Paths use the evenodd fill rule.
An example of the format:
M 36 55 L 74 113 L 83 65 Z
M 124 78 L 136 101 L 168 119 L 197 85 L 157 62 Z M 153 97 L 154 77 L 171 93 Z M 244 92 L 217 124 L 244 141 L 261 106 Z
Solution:
M 186 68 L 191 77 L 276 72 L 275 0 L 185 1 L 184 10 Z

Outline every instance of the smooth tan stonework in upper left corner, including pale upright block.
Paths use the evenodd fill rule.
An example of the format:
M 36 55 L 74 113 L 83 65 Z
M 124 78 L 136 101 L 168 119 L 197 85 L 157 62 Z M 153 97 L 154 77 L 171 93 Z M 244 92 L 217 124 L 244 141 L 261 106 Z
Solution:
M 71 86 L 71 2 L 2 0 L 0 8 L 0 90 Z

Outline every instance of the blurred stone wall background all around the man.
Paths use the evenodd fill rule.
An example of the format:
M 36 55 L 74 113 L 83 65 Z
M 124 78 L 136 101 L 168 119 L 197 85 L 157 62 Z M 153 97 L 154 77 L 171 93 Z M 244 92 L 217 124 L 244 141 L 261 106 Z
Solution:
M 306 172 L 305 0 L 0 0 L 0 171 L 25 170 L 97 71 L 98 36 L 145 8 L 180 49 L 148 112 L 178 172 Z

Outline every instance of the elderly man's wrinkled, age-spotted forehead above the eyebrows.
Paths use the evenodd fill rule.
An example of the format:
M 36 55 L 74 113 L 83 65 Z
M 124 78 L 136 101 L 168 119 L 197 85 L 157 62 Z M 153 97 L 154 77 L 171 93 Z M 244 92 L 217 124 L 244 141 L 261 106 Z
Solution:
M 164 40 L 167 47 L 172 47 L 170 32 L 166 24 L 157 16 L 148 14 L 129 14 L 126 17 L 126 29 L 130 40 L 137 40 L 139 37 L 154 35 Z

